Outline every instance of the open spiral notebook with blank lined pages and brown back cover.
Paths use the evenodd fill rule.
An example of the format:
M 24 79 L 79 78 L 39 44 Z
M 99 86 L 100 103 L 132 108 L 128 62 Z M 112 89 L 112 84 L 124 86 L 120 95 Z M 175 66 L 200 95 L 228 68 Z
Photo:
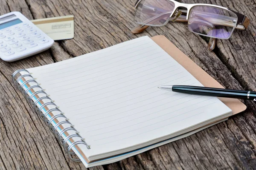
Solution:
M 70 158 L 86 167 L 142 153 L 245 110 L 237 99 L 221 102 L 157 88 L 203 86 L 201 82 L 220 85 L 165 37 L 152 39 L 140 37 L 62 62 L 21 69 L 15 71 L 13 81 Z

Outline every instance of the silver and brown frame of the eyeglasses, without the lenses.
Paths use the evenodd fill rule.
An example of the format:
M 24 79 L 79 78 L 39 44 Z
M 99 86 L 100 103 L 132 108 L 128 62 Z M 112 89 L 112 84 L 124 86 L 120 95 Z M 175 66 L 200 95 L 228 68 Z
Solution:
M 142 0 L 137 0 L 137 2 L 135 3 L 134 8 L 138 7 L 140 1 L 142 1 Z M 175 15 L 175 11 L 179 7 L 187 8 L 187 10 L 180 10 L 182 12 L 182 14 L 176 20 L 173 20 L 173 22 L 175 22 L 175 21 L 188 22 L 188 20 L 189 20 L 189 12 L 195 6 L 211 6 L 211 7 L 215 7 L 215 8 L 221 8 L 221 9 L 224 9 L 224 10 L 227 10 L 227 11 L 230 11 L 230 12 L 233 12 L 233 13 L 236 14 L 236 16 L 237 16 L 236 27 L 233 28 L 232 32 L 230 33 L 230 36 L 228 38 L 218 38 L 218 39 L 227 40 L 227 39 L 229 39 L 231 37 L 231 35 L 233 34 L 233 31 L 235 29 L 245 30 L 249 26 L 249 24 L 250 24 L 250 19 L 247 16 L 245 16 L 244 14 L 240 14 L 240 13 L 238 13 L 236 11 L 232 11 L 232 10 L 230 10 L 228 8 L 223 7 L 223 6 L 217 6 L 217 5 L 206 4 L 206 3 L 186 4 L 186 3 L 179 3 L 179 2 L 177 2 L 175 0 L 169 0 L 169 1 L 171 1 L 171 2 L 173 2 L 175 4 L 174 9 L 172 10 L 172 14 L 170 14 L 170 17 L 168 18 L 168 20 L 166 20 L 166 22 L 163 25 L 160 25 L 160 26 L 165 26 L 169 22 L 170 18 L 172 18 L 173 15 Z M 186 18 L 184 17 L 185 15 L 186 15 Z M 149 26 L 154 26 L 154 25 L 147 25 L 147 24 L 139 25 L 139 26 L 135 27 L 134 29 L 132 29 L 131 32 L 134 33 L 134 34 L 138 34 L 138 33 L 141 33 L 142 31 L 144 31 Z M 205 36 L 205 37 L 210 37 L 211 39 L 209 41 L 208 49 L 210 51 L 212 51 L 214 49 L 214 47 L 215 47 L 215 37 L 211 37 L 211 36 L 208 36 L 208 35 L 205 35 L 205 34 L 200 34 L 200 33 L 195 33 L 195 34 L 199 34 L 199 35 L 202 35 L 202 36 Z

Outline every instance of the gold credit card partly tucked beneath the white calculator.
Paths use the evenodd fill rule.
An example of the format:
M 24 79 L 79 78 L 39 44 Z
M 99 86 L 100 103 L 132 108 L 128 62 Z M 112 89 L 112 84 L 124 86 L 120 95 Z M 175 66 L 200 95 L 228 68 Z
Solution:
M 74 16 L 52 17 L 31 20 L 52 40 L 67 40 L 74 38 Z

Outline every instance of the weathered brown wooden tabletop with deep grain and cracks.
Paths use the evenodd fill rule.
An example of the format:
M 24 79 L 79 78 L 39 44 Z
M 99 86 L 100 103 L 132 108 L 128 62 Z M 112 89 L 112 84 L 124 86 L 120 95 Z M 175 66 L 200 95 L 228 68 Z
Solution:
M 165 35 L 226 88 L 256 91 L 256 0 L 182 0 L 212 3 L 247 15 L 246 31 L 229 40 L 207 40 L 186 23 L 168 23 L 131 34 L 136 0 L 1 0 L 0 14 L 20 11 L 29 19 L 74 15 L 75 38 L 56 41 L 51 49 L 17 62 L 0 60 L 0 169 L 86 169 L 71 161 L 47 125 L 35 114 L 11 75 L 20 68 L 59 62 L 127 40 Z M 256 169 L 256 104 L 247 111 L 192 136 L 131 158 L 90 169 Z

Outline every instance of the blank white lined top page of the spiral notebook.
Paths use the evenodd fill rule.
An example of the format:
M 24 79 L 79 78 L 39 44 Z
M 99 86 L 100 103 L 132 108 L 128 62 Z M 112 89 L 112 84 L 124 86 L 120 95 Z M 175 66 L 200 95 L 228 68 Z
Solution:
M 89 155 L 145 143 L 231 111 L 214 97 L 157 88 L 202 85 L 149 37 L 28 70 L 90 144 Z

